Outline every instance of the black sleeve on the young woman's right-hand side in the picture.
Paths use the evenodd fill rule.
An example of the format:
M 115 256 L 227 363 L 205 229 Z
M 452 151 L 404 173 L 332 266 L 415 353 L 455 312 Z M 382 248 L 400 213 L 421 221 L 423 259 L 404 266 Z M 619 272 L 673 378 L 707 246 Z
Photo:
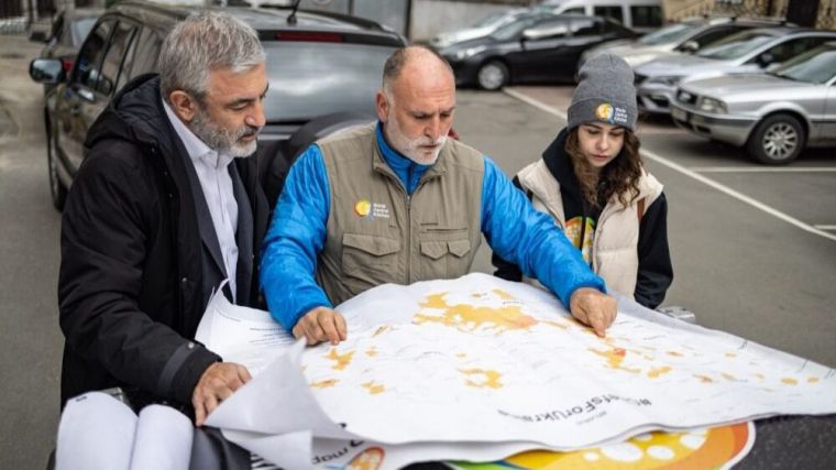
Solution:
M 671 252 L 668 248 L 668 200 L 664 193 L 648 207 L 639 225 L 639 271 L 636 302 L 656 308 L 673 282 Z

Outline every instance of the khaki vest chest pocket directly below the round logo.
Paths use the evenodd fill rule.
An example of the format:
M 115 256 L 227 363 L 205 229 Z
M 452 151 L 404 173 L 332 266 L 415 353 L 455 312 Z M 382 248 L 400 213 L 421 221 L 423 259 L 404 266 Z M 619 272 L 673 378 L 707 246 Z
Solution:
M 402 282 L 398 269 L 400 240 L 385 237 L 343 233 L 342 274 L 353 295 L 388 282 Z

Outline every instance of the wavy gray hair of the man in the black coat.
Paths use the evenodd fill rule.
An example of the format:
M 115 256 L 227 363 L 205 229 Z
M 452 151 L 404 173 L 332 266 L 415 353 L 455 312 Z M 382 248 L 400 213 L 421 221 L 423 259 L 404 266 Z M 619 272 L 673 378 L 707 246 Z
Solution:
M 252 26 L 227 13 L 196 12 L 177 23 L 163 42 L 160 91 L 166 101 L 174 90 L 202 101 L 210 70 L 229 68 L 238 74 L 264 61 L 264 48 Z

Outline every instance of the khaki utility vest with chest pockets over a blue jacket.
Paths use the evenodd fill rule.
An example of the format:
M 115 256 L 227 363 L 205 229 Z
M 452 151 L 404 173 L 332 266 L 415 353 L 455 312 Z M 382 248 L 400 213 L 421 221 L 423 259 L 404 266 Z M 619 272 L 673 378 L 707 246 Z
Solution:
M 331 193 L 317 282 L 334 305 L 385 283 L 462 276 L 482 242 L 483 155 L 448 140 L 409 196 L 375 125 L 317 142 Z

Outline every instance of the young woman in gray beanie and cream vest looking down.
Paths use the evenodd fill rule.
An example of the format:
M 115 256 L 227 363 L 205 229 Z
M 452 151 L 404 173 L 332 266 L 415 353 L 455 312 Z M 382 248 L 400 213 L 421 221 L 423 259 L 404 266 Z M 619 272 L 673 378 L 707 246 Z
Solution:
M 639 155 L 632 70 L 605 54 L 580 78 L 566 128 L 514 183 L 563 228 L 608 289 L 656 308 L 673 280 L 668 203 Z M 493 262 L 497 276 L 522 280 L 518 266 L 495 254 Z

